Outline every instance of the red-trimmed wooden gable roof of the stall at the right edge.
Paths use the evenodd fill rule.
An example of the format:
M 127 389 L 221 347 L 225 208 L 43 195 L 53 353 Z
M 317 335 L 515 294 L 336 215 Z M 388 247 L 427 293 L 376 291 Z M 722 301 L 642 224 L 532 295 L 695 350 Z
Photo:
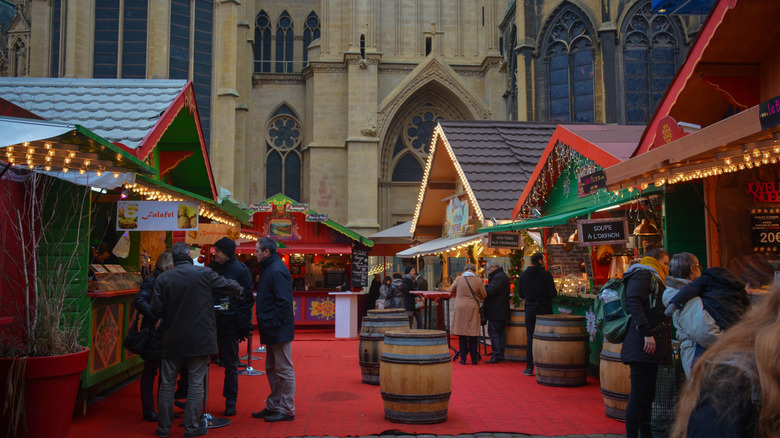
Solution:
M 777 1 L 718 0 L 647 124 L 633 156 L 655 146 L 666 116 L 706 127 L 758 105 L 762 64 L 780 36 Z M 661 142 L 663 143 L 663 142 Z

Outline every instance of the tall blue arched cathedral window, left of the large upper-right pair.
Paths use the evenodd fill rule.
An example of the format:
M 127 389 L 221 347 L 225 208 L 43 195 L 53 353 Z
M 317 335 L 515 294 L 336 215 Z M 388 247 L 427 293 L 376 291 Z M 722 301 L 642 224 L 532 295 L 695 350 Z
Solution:
M 553 18 L 542 49 L 550 121 L 593 122 L 593 40 L 582 13 L 563 7 Z

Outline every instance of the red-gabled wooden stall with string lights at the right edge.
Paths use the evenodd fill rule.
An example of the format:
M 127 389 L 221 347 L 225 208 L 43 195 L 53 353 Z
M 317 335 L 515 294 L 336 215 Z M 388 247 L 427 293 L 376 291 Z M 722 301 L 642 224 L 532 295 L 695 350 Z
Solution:
M 728 268 L 753 294 L 780 271 L 778 13 L 716 2 L 633 158 L 605 170 L 610 190 L 663 189 L 670 253 Z

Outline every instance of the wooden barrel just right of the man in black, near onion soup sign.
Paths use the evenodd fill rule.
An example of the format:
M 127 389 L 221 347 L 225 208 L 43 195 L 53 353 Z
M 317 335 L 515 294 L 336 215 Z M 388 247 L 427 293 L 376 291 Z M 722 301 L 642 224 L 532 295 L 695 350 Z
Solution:
M 539 315 L 534 329 L 536 383 L 583 386 L 588 374 L 588 332 L 585 317 Z

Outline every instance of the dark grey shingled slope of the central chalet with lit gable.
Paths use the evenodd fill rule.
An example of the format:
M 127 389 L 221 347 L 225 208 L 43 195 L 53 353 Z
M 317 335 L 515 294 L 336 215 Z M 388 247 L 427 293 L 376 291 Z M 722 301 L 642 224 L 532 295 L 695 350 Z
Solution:
M 509 219 L 557 123 L 440 122 L 485 219 Z

